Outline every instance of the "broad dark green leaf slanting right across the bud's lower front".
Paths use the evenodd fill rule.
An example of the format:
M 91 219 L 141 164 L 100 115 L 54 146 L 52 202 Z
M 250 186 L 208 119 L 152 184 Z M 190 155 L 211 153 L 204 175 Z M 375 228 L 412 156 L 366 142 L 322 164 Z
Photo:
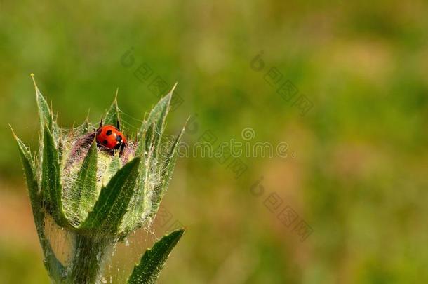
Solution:
M 98 230 L 99 234 L 116 233 L 133 196 L 139 163 L 140 158 L 134 158 L 117 171 L 106 187 L 102 187 L 98 201 L 81 229 Z

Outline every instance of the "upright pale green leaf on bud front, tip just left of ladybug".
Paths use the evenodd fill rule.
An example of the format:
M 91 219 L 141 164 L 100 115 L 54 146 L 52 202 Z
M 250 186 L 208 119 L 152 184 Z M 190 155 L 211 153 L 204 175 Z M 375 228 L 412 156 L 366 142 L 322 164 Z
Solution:
M 76 181 L 72 186 L 72 214 L 86 217 L 97 198 L 97 142 L 92 142 L 88 149 Z

